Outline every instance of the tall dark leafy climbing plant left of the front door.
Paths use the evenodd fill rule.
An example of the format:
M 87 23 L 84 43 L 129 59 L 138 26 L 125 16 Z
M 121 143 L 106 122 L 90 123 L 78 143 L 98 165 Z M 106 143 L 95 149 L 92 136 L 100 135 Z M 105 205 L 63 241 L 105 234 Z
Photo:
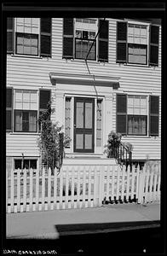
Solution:
M 71 139 L 64 137 L 63 142 L 60 144 L 62 125 L 58 125 L 58 122 L 53 124 L 51 121 L 51 113 L 55 111 L 55 109 L 51 108 L 51 102 L 52 101 L 49 101 L 47 109 L 39 115 L 38 124 L 41 127 L 41 133 L 38 138 L 38 147 L 42 153 L 43 165 L 47 166 L 47 168 L 50 167 L 53 172 L 55 167 L 60 170 L 60 159 L 62 162 L 64 148 Z

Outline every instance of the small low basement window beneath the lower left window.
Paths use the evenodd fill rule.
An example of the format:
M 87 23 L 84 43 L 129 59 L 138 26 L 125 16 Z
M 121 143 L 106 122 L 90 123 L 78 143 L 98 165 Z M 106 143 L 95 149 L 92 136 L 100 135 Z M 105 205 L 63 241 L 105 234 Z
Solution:
M 21 160 L 21 159 L 15 159 L 14 160 L 14 169 L 17 170 L 17 169 L 37 169 L 37 160 L 32 160 L 32 159 L 24 159 L 24 160 Z

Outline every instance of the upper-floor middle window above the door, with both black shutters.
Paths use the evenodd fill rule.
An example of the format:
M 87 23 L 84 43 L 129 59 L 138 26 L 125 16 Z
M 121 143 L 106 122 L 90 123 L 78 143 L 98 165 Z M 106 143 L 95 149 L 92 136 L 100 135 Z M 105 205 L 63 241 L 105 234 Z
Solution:
M 92 61 L 108 61 L 108 20 L 64 19 L 63 58 L 86 57 Z

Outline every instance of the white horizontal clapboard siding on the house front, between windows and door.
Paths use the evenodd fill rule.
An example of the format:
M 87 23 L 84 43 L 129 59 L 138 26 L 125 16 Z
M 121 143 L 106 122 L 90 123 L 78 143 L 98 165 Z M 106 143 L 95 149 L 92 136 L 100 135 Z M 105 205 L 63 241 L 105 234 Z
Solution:
M 113 90 L 112 102 L 112 127 L 116 130 L 116 96 L 115 92 L 132 92 L 161 96 L 161 28 L 159 29 L 159 54 L 158 67 L 147 67 L 142 65 L 129 65 L 116 63 L 116 34 L 117 20 L 109 20 L 109 51 L 108 62 L 88 61 L 91 74 L 98 76 L 119 77 L 120 87 Z M 37 58 L 7 55 L 7 85 L 14 88 L 32 88 L 37 90 L 53 88 L 52 96 L 55 97 L 55 87 L 50 83 L 49 73 L 72 73 L 89 74 L 86 63 L 83 60 L 62 59 L 62 28 L 63 19 L 52 19 L 52 57 Z M 102 84 L 101 84 L 102 85 Z M 77 85 L 75 85 L 77 86 Z M 69 91 L 76 91 L 76 87 L 71 85 Z M 79 86 L 78 91 L 85 91 Z M 63 87 L 66 88 L 66 86 Z M 89 87 L 87 87 L 89 88 Z M 93 91 L 95 90 L 92 87 Z M 107 89 L 109 90 L 109 89 Z M 89 90 L 90 91 L 90 90 Z M 65 92 L 65 91 L 64 91 Z M 53 107 L 56 107 L 54 100 Z M 159 100 L 159 135 L 161 131 L 161 99 Z M 53 120 L 56 120 L 53 114 Z M 123 137 L 124 141 L 134 145 L 133 157 L 136 159 L 146 159 L 149 153 L 150 159 L 160 159 L 160 137 Z M 24 141 L 24 143 L 23 143 Z M 144 146 L 143 146 L 144 145 Z M 32 152 L 33 148 L 33 152 Z M 7 154 L 20 155 L 24 149 L 25 154 L 38 155 L 37 135 L 18 135 L 7 133 Z

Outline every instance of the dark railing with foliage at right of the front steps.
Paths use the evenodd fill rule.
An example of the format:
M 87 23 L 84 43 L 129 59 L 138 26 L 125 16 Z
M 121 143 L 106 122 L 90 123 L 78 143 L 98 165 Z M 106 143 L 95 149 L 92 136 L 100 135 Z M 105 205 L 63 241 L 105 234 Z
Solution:
M 132 152 L 126 148 L 123 143 L 119 143 L 117 147 L 112 148 L 108 154 L 109 158 L 115 158 L 118 164 L 124 164 L 125 166 L 131 165 Z

